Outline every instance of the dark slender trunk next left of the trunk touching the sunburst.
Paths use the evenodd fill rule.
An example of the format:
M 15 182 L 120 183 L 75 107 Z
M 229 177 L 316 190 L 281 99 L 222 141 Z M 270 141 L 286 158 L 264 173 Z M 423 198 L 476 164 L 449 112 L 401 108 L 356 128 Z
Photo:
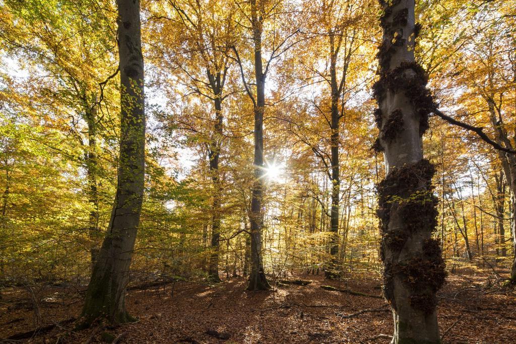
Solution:
M 220 282 L 219 277 L 219 251 L 220 251 L 220 177 L 219 177 L 219 156 L 220 142 L 222 138 L 222 97 L 221 97 L 221 77 L 220 72 L 213 75 L 207 71 L 209 83 L 212 87 L 215 106 L 215 125 L 212 141 L 209 148 L 209 171 L 211 173 L 214 194 L 212 202 L 212 243 L 211 254 L 209 257 L 208 277 L 213 282 Z

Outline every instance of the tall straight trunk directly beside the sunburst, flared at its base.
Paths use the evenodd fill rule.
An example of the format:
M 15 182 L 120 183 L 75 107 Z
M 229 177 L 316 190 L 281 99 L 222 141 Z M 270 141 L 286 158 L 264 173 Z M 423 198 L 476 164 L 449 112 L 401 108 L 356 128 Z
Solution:
M 260 12 L 260 13 L 259 13 Z M 254 76 L 256 80 L 256 101 L 254 112 L 254 182 L 251 190 L 251 271 L 248 290 L 270 289 L 263 269 L 262 227 L 263 227 L 263 115 L 265 112 L 265 74 L 262 64 L 262 11 L 256 0 L 251 0 L 251 23 L 254 42 Z

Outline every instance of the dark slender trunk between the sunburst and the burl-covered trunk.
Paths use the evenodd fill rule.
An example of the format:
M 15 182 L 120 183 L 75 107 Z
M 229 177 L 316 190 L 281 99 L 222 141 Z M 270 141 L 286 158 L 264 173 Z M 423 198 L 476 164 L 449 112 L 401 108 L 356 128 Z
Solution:
M 330 39 L 330 85 L 331 85 L 331 214 L 330 214 L 330 255 L 331 263 L 326 271 L 327 278 L 334 278 L 340 275 L 338 264 L 338 202 L 340 199 L 341 181 L 338 166 L 338 122 L 340 113 L 338 112 L 338 101 L 340 100 L 340 88 L 337 85 L 336 63 L 337 51 L 335 49 L 333 34 Z M 338 47 L 337 47 L 338 49 Z

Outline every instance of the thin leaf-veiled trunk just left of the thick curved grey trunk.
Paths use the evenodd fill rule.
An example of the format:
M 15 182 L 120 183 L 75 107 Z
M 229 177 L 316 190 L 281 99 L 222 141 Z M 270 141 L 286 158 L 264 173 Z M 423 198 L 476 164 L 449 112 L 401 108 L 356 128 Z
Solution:
M 96 105 L 87 106 L 85 109 L 88 123 L 88 148 L 84 154 L 86 160 L 86 175 L 88 179 L 88 202 L 90 214 L 88 219 L 89 238 L 92 243 L 90 249 L 91 268 L 95 266 L 96 257 L 99 254 L 99 193 L 97 190 L 97 156 L 96 156 Z

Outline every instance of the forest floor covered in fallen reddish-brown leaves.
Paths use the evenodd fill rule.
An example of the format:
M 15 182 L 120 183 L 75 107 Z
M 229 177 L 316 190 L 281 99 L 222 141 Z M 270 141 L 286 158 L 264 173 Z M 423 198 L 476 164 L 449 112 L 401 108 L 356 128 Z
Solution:
M 178 282 L 131 290 L 127 308 L 138 317 L 137 322 L 80 332 L 72 329 L 84 290 L 47 287 L 38 305 L 40 331 L 18 340 L 7 338 L 33 331 L 37 310 L 28 289 L 4 289 L 0 299 L 0 342 L 94 343 L 113 339 L 118 343 L 390 342 L 377 337 L 390 335 L 393 329 L 392 314 L 383 299 L 320 288 L 331 285 L 379 296 L 379 281 L 370 281 L 370 276 L 349 283 L 326 281 L 320 275 L 299 275 L 296 279 L 312 283 L 250 292 L 245 291 L 245 280 L 236 277 L 215 286 Z M 494 277 L 488 274 L 448 276 L 438 294 L 444 342 L 514 342 L 516 293 L 493 287 L 493 281 Z M 370 311 L 357 314 L 366 309 Z

